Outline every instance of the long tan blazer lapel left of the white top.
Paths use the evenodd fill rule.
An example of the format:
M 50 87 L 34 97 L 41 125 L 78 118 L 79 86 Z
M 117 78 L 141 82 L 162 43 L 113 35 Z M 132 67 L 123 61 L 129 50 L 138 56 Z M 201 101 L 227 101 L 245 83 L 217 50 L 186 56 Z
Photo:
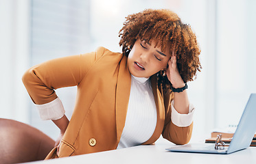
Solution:
M 126 123 L 126 113 L 130 97 L 131 77 L 127 66 L 127 57 L 124 56 L 120 61 L 119 72 L 117 77 L 117 92 L 116 92 L 116 126 L 117 126 L 117 144 L 120 141 L 121 133 Z

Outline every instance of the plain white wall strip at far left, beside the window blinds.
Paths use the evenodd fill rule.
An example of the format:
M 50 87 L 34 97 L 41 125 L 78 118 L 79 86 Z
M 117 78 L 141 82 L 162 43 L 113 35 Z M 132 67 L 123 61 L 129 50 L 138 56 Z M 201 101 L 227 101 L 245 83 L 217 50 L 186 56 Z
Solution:
M 30 1 L 0 1 L 0 117 L 29 123 L 28 96 L 21 77 L 29 67 Z

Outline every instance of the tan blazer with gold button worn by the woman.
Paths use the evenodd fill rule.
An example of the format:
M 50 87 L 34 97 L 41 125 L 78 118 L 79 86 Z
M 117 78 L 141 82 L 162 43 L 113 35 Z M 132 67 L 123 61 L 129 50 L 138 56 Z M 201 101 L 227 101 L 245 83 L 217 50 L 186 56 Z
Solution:
M 56 99 L 54 90 L 77 85 L 78 92 L 72 118 L 60 143 L 46 159 L 114 150 L 126 122 L 130 94 L 127 57 L 100 47 L 96 52 L 53 59 L 27 70 L 23 83 L 36 104 Z M 143 144 L 164 138 L 184 144 L 191 138 L 193 124 L 178 127 L 171 122 L 170 102 L 173 94 L 163 94 L 156 75 L 150 77 L 157 109 L 155 131 Z

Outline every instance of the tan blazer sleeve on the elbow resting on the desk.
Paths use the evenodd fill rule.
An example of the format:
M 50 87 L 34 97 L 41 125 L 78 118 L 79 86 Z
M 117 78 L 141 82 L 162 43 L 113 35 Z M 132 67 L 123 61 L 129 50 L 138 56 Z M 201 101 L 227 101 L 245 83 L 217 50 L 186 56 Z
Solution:
M 179 127 L 172 123 L 171 114 L 171 100 L 173 99 L 173 94 L 170 96 L 165 96 L 165 125 L 163 127 L 163 138 L 178 144 L 183 145 L 189 142 L 193 130 L 193 122 L 189 126 Z

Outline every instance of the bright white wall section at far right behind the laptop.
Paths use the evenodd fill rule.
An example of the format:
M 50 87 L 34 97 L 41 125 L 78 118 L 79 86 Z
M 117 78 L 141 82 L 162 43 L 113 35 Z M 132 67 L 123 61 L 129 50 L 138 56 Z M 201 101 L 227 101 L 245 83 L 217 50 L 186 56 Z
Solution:
M 256 92 L 255 1 L 218 1 L 216 126 L 238 124 Z

